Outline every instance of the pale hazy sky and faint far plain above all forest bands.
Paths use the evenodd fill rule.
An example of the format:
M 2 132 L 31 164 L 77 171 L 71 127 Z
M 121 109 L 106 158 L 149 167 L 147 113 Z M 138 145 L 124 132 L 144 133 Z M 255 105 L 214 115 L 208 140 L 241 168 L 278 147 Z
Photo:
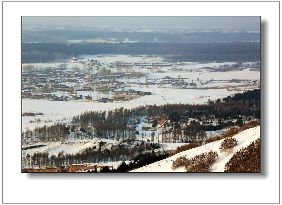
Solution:
M 23 17 L 25 26 L 155 27 L 247 31 L 260 30 L 259 17 Z M 107 25 L 103 27 L 102 25 Z M 61 28 L 63 29 L 63 28 Z M 85 28 L 81 28 L 85 30 Z

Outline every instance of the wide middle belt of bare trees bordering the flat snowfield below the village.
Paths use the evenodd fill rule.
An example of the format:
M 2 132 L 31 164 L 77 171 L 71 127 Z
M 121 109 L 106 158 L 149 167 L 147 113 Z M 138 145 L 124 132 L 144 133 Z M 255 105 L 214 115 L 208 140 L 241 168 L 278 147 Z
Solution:
M 206 138 L 205 131 L 215 131 L 227 126 L 243 125 L 239 115 L 260 118 L 259 90 L 247 91 L 243 94 L 228 96 L 215 102 L 210 101 L 203 105 L 192 104 L 165 104 L 145 105 L 132 109 L 119 108 L 109 111 L 85 111 L 81 115 L 71 118 L 73 125 L 54 124 L 27 129 L 22 132 L 22 142 L 64 142 L 66 140 L 81 140 L 93 138 L 134 139 L 136 137 L 135 121 L 140 117 L 168 116 L 162 131 L 162 142 L 183 143 Z M 248 101 L 246 101 L 248 99 Z M 188 125 L 189 119 L 193 120 Z M 217 124 L 212 125 L 214 119 Z M 223 122 L 223 120 L 227 120 Z M 232 119 L 237 119 L 233 123 Z M 251 118 L 250 118 L 251 119 Z M 202 124 L 200 123 L 202 121 Z M 155 126 L 156 120 L 150 122 Z M 132 126 L 133 124 L 133 126 Z

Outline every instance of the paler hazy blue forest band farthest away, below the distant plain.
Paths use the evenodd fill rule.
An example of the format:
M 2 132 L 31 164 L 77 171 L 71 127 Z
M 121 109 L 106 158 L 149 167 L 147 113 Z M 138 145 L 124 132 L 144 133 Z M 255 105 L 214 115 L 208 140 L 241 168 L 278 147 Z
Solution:
M 259 41 L 260 33 L 145 33 L 67 30 L 24 31 L 22 33 L 23 42 L 37 43 L 65 43 L 68 39 L 103 39 L 111 41 L 111 38 L 115 38 L 116 42 L 122 42 L 125 38 L 139 42 L 240 42 Z

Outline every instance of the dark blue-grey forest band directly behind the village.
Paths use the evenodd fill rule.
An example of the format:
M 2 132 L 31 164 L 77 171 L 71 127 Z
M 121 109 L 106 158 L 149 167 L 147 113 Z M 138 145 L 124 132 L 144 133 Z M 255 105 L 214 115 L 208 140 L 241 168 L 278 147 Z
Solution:
M 43 63 L 84 54 L 173 55 L 165 58 L 168 62 L 251 62 L 260 60 L 260 43 L 22 43 L 23 63 Z

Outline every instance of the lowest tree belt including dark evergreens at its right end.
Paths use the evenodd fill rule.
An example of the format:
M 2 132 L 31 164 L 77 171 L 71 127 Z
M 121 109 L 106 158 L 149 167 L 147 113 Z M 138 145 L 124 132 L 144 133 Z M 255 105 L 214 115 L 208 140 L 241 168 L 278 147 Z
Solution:
M 128 144 L 125 142 L 128 142 Z M 64 151 L 61 151 L 57 156 L 54 154 L 50 156 L 48 152 L 34 152 L 32 156 L 27 154 L 24 157 L 23 167 L 46 168 L 89 162 L 132 160 L 133 162 L 130 164 L 130 169 L 133 169 L 165 159 L 168 156 L 167 152 L 154 151 L 160 148 L 158 143 L 144 143 L 144 141 L 140 141 L 140 145 L 137 143 L 135 146 L 131 147 L 132 141 L 125 142 L 124 144 L 112 145 L 110 149 L 102 149 L 105 142 L 100 142 L 98 148 L 96 146 L 89 147 L 76 154 L 66 154 Z M 129 171 L 129 168 L 127 171 Z

